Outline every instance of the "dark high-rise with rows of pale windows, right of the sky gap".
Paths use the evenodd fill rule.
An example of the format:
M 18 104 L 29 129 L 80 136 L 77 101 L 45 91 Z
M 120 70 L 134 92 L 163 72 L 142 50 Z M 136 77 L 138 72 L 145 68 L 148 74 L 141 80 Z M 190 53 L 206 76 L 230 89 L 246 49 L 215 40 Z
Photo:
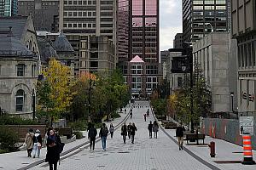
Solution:
M 183 0 L 183 42 L 212 31 L 229 31 L 230 0 Z

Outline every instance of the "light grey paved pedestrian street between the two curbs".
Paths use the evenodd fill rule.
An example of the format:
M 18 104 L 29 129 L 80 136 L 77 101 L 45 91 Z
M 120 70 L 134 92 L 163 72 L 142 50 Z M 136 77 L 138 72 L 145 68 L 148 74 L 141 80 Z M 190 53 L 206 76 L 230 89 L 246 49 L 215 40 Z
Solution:
M 139 108 L 138 108 L 139 104 Z M 207 166 L 200 161 L 195 160 L 185 151 L 177 150 L 177 144 L 169 139 L 163 131 L 160 130 L 158 139 L 148 138 L 148 123 L 154 121 L 150 114 L 147 122 L 144 122 L 143 114 L 146 113 L 148 102 L 136 101 L 136 107 L 133 109 L 132 119 L 129 122 L 135 122 L 137 133 L 135 135 L 135 144 L 127 140 L 123 144 L 120 135 L 120 128 L 114 132 L 113 139 L 108 136 L 107 150 L 102 151 L 101 142 L 96 143 L 95 151 L 90 151 L 88 146 L 82 148 L 76 155 L 71 155 L 61 160 L 59 170 L 70 169 L 132 169 L 132 170 L 208 170 Z M 141 108 L 143 106 L 143 108 Z M 153 135 L 154 136 L 154 135 Z M 47 163 L 33 170 L 49 169 Z

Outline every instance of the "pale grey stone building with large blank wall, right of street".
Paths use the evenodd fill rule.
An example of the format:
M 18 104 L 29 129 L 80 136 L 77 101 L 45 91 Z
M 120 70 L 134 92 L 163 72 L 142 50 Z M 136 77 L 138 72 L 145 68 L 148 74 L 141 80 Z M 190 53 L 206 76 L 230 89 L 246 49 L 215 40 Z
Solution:
M 228 32 L 212 32 L 193 44 L 193 59 L 211 87 L 212 112 L 236 111 L 236 40 Z

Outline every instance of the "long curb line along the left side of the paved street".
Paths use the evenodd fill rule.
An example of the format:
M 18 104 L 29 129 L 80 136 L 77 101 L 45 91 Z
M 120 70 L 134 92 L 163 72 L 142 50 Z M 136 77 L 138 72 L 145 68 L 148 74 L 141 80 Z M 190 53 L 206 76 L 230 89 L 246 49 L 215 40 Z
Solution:
M 134 104 L 132 104 L 131 105 L 131 107 L 133 106 Z M 130 107 L 130 108 L 131 108 Z M 130 111 L 131 111 L 131 109 L 130 109 Z M 126 114 L 126 116 L 125 116 L 125 118 L 121 121 L 121 122 L 119 122 L 115 127 L 114 127 L 114 131 L 116 131 L 122 124 L 123 124 L 123 122 L 125 122 L 125 121 L 127 121 L 127 119 L 129 118 L 129 116 L 130 116 L 130 111 L 128 111 L 128 113 Z M 110 133 L 108 133 L 108 135 L 109 135 Z M 97 137 L 96 138 L 96 142 L 99 142 L 100 141 L 100 137 Z M 62 152 L 61 153 L 61 156 L 64 156 L 64 157 L 62 157 L 61 158 L 61 160 L 64 160 L 64 159 L 66 159 L 67 157 L 70 157 L 70 156 L 73 156 L 73 155 L 76 155 L 76 154 L 78 154 L 81 150 L 78 150 L 79 148 L 81 148 L 82 146 L 84 146 L 84 145 L 86 145 L 86 144 L 90 144 L 90 140 L 89 141 L 86 141 L 86 142 L 84 142 L 84 143 L 82 143 L 82 144 L 79 144 L 79 145 L 77 145 L 77 146 L 75 146 L 75 147 L 73 147 L 72 149 L 70 149 L 70 150 L 66 150 L 66 151 L 64 151 L 64 152 Z M 86 146 L 85 146 L 86 147 Z M 88 147 L 88 146 L 87 146 Z M 70 154 L 70 155 L 68 155 L 68 156 L 66 156 L 68 153 L 71 153 L 71 152 L 73 152 L 74 150 L 77 150 L 76 152 L 74 152 L 74 153 L 72 153 L 72 154 Z M 40 165 L 40 164 L 42 164 L 42 163 L 44 163 L 45 162 L 45 159 L 41 159 L 41 160 L 39 160 L 39 161 L 34 161 L 34 162 L 32 162 L 31 164 L 29 164 L 29 165 L 27 165 L 26 167 L 21 167 L 21 168 L 19 168 L 19 169 L 17 169 L 17 170 L 26 170 L 26 169 L 30 169 L 30 168 L 32 168 L 32 167 L 36 167 L 36 166 L 38 166 L 38 165 Z M 47 165 L 48 166 L 48 165 Z

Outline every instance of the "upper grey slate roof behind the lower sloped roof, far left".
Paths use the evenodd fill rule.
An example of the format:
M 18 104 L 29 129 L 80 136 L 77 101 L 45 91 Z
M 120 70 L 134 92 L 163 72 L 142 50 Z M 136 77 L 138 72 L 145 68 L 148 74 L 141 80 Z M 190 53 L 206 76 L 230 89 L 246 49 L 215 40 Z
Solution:
M 20 39 L 26 21 L 27 16 L 0 17 L 0 31 L 9 30 L 9 27 L 12 27 L 13 35 Z

